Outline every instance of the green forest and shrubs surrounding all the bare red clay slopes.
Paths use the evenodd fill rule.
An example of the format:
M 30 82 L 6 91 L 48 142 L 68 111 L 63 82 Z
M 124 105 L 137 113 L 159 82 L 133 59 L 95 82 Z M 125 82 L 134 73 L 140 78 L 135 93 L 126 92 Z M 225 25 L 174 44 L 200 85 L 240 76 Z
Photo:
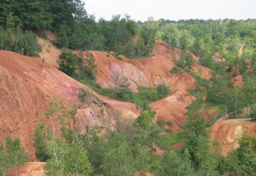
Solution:
M 62 51 L 57 60 L 59 70 L 98 94 L 134 103 L 140 110 L 132 124 L 113 114 L 114 128 L 102 131 L 97 125 L 87 126 L 87 133 L 83 134 L 69 128 L 77 105 L 66 107 L 62 100 L 53 97 L 45 112 L 48 120 L 36 125 L 32 137 L 37 160 L 46 162 L 46 175 L 256 175 L 255 135 L 240 136 L 239 147 L 223 157 L 219 142 L 210 140 L 207 129 L 227 114 L 229 118 L 241 118 L 244 108 L 248 109 L 246 117 L 256 120 L 256 19 L 173 21 L 148 17 L 143 22 L 123 14 L 113 15 L 109 21 L 96 21 L 84 7 L 81 0 L 0 2 L 0 49 L 38 56 L 41 46 L 36 35 L 46 38 L 41 31 L 52 31 L 56 40 L 51 42 Z M 169 71 L 187 72 L 196 82 L 196 89 L 188 92 L 197 100 L 188 107 L 186 123 L 177 133 L 162 128 L 171 126 L 170 121 L 153 122 L 156 113 L 148 106 L 171 93 L 164 83 L 132 92 L 127 78 L 122 77 L 114 87 L 102 88 L 95 81 L 95 57 L 90 53 L 83 59 L 81 55 L 82 51 L 105 51 L 120 60 L 121 55 L 147 58 L 154 56 L 156 40 L 180 52 L 176 66 Z M 195 63 L 190 53 L 211 70 L 210 80 L 200 78 L 200 71 L 190 72 Z M 215 62 L 213 56 L 225 58 L 225 62 Z M 241 75 L 243 86 L 233 86 L 230 75 Z M 81 89 L 78 97 L 85 101 L 89 94 Z M 210 121 L 198 113 L 204 96 L 206 106 L 218 112 Z M 168 139 L 162 133 L 169 133 Z M 163 156 L 155 154 L 153 145 L 168 143 L 182 143 L 182 148 L 169 150 Z M 12 168 L 17 170 L 28 161 L 20 139 L 7 136 L 0 145 L 0 175 Z

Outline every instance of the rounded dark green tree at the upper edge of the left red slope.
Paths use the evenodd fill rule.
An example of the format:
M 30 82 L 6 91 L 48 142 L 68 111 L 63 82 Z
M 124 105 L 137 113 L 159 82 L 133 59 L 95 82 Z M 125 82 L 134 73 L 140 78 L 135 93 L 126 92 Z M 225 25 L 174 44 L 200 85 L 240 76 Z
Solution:
M 69 76 L 72 76 L 77 66 L 77 56 L 70 51 L 62 51 L 57 60 L 59 69 Z

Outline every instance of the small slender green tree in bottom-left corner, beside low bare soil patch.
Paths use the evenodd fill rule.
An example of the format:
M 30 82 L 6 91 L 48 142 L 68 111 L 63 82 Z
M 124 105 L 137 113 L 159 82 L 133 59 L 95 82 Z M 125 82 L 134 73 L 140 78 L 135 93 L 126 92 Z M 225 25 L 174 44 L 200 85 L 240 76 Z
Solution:
M 7 157 L 11 166 L 15 168 L 15 175 L 17 176 L 18 168 L 28 161 L 28 156 L 18 138 L 12 140 L 11 136 L 7 136 L 5 140 L 8 154 Z

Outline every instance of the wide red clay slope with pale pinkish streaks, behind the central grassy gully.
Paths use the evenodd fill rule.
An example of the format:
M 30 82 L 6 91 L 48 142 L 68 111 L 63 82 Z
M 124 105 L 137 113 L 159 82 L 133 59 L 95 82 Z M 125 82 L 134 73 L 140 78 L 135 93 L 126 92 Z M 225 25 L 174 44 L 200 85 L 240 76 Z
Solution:
M 83 56 L 88 52 L 82 52 Z M 118 60 L 114 56 L 108 57 L 105 52 L 92 52 L 95 56 L 98 73 L 97 83 L 103 88 L 114 87 L 117 80 L 125 76 L 129 79 L 130 89 L 138 91 L 137 85 L 155 87 L 166 83 L 170 89 L 193 89 L 195 80 L 188 73 L 172 74 L 169 72 L 174 67 L 174 62 L 160 55 L 143 59 Z M 77 53 L 78 54 L 78 53 Z

